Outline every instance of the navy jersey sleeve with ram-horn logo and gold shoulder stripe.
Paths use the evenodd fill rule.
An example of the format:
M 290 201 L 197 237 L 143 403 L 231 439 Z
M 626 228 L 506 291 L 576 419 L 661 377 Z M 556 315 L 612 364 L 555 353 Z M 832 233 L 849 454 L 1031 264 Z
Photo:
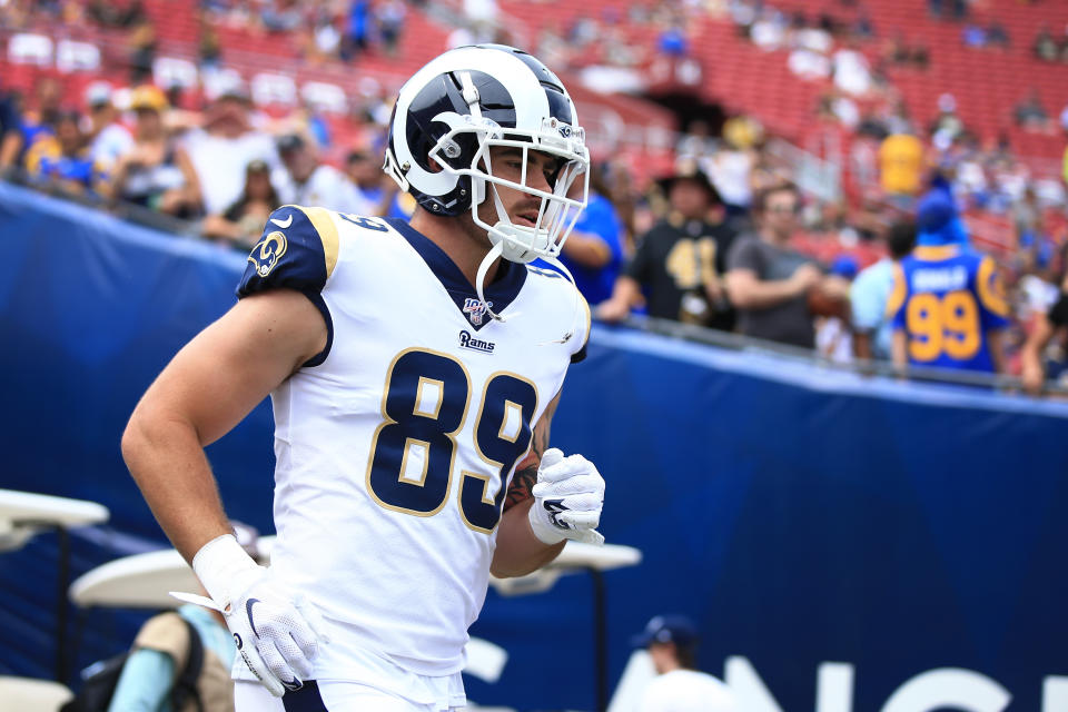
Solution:
M 295 289 L 318 308 L 326 322 L 326 348 L 305 366 L 326 360 L 334 342 L 334 322 L 323 288 L 337 265 L 337 227 L 327 209 L 286 205 L 270 214 L 237 286 L 238 298 L 270 289 Z

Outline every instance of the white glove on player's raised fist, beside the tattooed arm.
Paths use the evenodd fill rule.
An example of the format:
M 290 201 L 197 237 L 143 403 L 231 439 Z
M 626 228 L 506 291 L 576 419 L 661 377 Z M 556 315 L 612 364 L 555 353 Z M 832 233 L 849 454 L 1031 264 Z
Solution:
M 545 451 L 531 494 L 531 528 L 538 540 L 545 544 L 565 538 L 604 544 L 596 531 L 604 505 L 604 478 L 589 459 L 582 455 L 564 457 L 555 447 Z

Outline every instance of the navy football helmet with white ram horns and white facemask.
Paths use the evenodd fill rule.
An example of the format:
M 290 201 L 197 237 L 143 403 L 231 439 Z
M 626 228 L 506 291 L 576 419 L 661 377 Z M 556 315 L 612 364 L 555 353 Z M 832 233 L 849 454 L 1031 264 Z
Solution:
M 495 146 L 523 151 L 520 182 L 494 176 L 490 148 Z M 530 150 L 557 159 L 552 192 L 526 185 Z M 585 132 L 556 75 L 524 51 L 477 44 L 431 60 L 402 87 L 384 169 L 434 215 L 471 210 L 475 224 L 490 235 L 493 259 L 503 255 L 528 263 L 537 257 L 556 261 L 586 205 L 589 167 Z M 582 189 L 570 198 L 576 180 Z M 497 185 L 541 199 L 533 227 L 512 224 Z M 478 206 L 487 198 L 497 210 L 494 225 L 478 216 Z M 478 283 L 481 291 L 482 275 Z

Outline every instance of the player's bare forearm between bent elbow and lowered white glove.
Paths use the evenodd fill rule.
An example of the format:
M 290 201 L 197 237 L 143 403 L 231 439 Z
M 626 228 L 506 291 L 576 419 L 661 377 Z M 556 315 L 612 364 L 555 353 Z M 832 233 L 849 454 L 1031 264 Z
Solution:
M 122 457 L 160 527 L 186 561 L 230 526 L 196 431 L 188 423 L 135 411 Z

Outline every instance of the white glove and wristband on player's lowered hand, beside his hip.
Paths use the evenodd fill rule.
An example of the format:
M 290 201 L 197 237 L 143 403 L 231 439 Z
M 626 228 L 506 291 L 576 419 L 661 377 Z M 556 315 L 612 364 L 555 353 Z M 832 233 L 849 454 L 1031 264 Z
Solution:
M 286 592 L 230 534 L 205 544 L 192 558 L 192 570 L 264 686 L 276 698 L 303 688 L 319 643 L 326 642 L 318 612 Z

